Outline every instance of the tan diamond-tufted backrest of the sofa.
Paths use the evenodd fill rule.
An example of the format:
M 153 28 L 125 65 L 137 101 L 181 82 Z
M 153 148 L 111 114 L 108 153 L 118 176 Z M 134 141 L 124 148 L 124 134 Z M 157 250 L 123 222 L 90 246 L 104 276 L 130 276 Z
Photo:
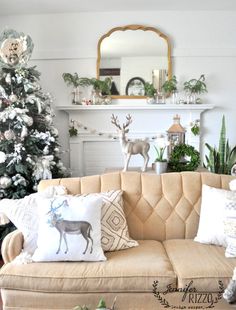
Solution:
M 231 176 L 207 172 L 162 175 L 115 172 L 100 176 L 43 180 L 39 190 L 59 184 L 74 195 L 121 189 L 130 236 L 136 240 L 163 241 L 194 238 L 199 223 L 202 184 L 229 189 L 232 179 Z

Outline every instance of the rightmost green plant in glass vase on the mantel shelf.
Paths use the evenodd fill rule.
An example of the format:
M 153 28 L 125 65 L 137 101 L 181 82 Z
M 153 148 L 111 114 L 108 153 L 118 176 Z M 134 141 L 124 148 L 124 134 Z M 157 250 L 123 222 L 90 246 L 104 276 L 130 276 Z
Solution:
M 184 90 L 187 93 L 187 103 L 200 103 L 200 98 L 196 98 L 196 95 L 207 92 L 207 86 L 205 83 L 205 75 L 202 74 L 199 79 L 191 79 L 184 82 Z

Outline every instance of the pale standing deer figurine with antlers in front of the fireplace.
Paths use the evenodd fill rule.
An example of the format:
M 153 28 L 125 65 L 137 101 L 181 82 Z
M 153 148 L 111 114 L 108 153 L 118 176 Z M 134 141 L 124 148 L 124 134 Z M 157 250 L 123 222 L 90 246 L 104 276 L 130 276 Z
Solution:
M 142 171 L 147 170 L 147 165 L 149 161 L 148 151 L 150 149 L 150 144 L 145 140 L 135 140 L 135 141 L 128 141 L 126 138 L 126 134 L 129 132 L 127 128 L 132 123 L 131 115 L 128 114 L 126 116 L 126 123 L 123 124 L 122 128 L 119 124 L 118 117 L 112 114 L 111 123 L 114 124 L 118 128 L 119 132 L 119 139 L 121 144 L 122 153 L 124 154 L 125 158 L 125 166 L 123 171 L 128 170 L 128 165 L 130 161 L 131 155 L 140 154 L 144 158 L 144 165 L 142 167 Z

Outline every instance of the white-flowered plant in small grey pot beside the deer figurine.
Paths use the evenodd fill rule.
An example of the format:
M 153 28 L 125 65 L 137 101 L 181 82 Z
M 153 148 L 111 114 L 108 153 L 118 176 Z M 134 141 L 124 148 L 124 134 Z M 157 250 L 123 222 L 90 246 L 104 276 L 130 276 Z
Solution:
M 167 170 L 167 159 L 164 158 L 164 153 L 169 144 L 170 142 L 167 141 L 165 137 L 160 136 L 157 138 L 156 145 L 154 145 L 156 150 L 156 158 L 154 162 L 156 174 L 164 173 Z

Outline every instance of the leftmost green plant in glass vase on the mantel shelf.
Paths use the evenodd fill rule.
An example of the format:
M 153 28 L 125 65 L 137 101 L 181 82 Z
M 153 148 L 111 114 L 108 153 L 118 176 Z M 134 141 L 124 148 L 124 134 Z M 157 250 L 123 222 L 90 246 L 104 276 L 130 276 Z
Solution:
M 90 80 L 88 78 L 81 78 L 78 73 L 63 73 L 62 78 L 67 86 L 73 86 L 72 91 L 72 103 L 80 104 L 80 89 L 79 87 L 85 87 L 90 85 Z

